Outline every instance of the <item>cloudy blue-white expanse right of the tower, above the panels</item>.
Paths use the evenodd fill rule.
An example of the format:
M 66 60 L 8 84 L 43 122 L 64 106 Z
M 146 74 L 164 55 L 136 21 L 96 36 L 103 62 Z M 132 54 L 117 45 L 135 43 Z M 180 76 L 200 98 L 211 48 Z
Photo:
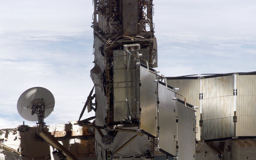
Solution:
M 165 76 L 255 71 L 255 1 L 154 1 Z

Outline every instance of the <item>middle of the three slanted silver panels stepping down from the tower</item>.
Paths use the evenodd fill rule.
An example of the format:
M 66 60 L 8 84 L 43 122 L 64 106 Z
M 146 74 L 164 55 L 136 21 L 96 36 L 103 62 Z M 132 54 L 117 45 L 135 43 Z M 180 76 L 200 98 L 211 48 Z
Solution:
M 176 155 L 176 101 L 172 98 L 175 93 L 166 86 L 158 84 L 158 126 L 159 147 L 164 151 Z

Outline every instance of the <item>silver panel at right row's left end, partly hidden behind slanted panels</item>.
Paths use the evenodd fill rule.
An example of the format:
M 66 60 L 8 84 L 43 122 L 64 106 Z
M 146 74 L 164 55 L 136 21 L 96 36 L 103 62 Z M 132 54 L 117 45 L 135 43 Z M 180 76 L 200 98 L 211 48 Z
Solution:
M 198 106 L 198 110 L 196 112 L 196 139 L 201 140 L 201 127 L 199 127 L 200 120 L 200 79 L 168 79 L 167 84 L 172 87 L 179 88 L 177 93 L 180 93 L 184 97 L 186 97 L 186 102 L 193 105 Z M 179 96 L 177 94 L 178 99 L 184 99 L 183 96 Z

